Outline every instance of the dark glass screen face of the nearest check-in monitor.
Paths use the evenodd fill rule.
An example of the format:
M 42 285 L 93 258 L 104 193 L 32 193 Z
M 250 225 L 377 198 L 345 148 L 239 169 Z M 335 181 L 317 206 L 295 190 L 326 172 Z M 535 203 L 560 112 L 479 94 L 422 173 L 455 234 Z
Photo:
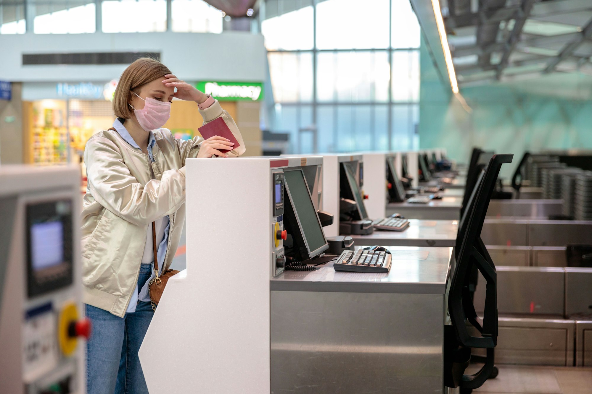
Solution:
M 310 253 L 311 257 L 314 257 L 314 252 L 326 246 L 327 240 L 308 191 L 304 173 L 300 169 L 284 171 L 284 176 L 288 195 L 307 244 L 308 253 Z

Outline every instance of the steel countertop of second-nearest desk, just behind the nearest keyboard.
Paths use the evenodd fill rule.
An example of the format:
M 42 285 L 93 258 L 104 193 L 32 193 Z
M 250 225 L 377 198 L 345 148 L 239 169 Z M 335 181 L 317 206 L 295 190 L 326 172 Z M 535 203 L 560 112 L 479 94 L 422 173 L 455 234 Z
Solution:
M 381 246 L 455 246 L 458 221 L 409 219 L 404 231 L 375 230 L 370 235 L 351 235 L 356 244 Z

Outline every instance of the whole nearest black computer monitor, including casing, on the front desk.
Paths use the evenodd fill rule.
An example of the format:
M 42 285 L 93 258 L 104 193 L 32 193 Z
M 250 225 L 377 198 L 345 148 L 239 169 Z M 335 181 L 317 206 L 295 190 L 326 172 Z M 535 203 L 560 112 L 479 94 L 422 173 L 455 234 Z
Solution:
M 308 260 L 329 248 L 327 239 L 314 208 L 310 190 L 301 169 L 284 170 L 285 218 L 284 225 L 292 235 L 294 247 L 286 250 L 287 256 Z

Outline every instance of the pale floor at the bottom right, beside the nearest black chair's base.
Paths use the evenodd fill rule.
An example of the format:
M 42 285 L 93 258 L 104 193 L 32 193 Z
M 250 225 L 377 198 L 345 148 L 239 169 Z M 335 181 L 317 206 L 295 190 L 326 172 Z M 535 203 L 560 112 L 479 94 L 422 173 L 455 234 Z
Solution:
M 470 373 L 477 372 L 476 366 Z M 498 365 L 500 374 L 475 394 L 590 394 L 592 368 Z

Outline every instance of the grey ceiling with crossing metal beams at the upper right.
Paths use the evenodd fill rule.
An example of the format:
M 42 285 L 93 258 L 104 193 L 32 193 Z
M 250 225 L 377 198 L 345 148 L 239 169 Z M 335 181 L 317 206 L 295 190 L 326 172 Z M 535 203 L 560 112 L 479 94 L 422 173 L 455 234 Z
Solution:
M 440 0 L 440 7 L 461 88 L 557 72 L 592 76 L 592 0 Z

